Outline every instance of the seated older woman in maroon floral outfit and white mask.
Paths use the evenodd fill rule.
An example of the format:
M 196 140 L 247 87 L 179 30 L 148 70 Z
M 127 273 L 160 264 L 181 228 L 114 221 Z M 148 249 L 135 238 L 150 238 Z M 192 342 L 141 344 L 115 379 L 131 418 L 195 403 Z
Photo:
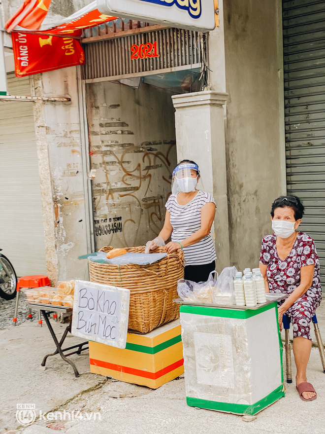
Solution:
M 266 292 L 289 296 L 278 303 L 279 325 L 288 315 L 293 327 L 293 354 L 297 368 L 296 388 L 304 401 L 316 399 L 307 383 L 306 368 L 311 351 L 310 322 L 322 300 L 320 262 L 312 238 L 297 228 L 304 207 L 296 196 L 281 196 L 272 204 L 274 234 L 266 235 L 260 250 L 260 271 Z

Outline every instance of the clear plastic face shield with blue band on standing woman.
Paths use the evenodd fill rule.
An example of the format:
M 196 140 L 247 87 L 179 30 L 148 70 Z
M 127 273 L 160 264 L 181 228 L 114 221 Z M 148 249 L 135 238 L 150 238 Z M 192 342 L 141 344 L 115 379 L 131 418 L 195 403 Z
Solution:
M 189 193 L 195 191 L 197 182 L 200 180 L 200 171 L 196 164 L 182 163 L 175 167 L 173 171 L 173 179 L 171 183 L 171 192 L 178 193 L 183 191 Z

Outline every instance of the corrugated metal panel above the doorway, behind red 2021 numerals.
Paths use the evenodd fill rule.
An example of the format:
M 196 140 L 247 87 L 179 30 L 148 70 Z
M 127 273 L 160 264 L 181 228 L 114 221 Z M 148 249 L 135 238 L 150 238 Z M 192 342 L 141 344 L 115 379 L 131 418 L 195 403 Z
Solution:
M 119 34 L 118 34 L 119 35 Z M 102 36 L 103 38 L 105 35 Z M 92 39 L 95 39 L 92 41 Z M 152 32 L 144 31 L 132 35 L 97 40 L 97 37 L 83 39 L 85 65 L 83 78 L 86 82 L 181 71 L 201 67 L 203 38 L 198 32 L 168 28 Z M 157 44 L 157 57 L 131 58 L 131 47 Z M 203 47 L 201 47 L 203 43 Z M 151 55 L 151 54 L 150 54 Z M 141 54 L 139 54 L 141 56 Z

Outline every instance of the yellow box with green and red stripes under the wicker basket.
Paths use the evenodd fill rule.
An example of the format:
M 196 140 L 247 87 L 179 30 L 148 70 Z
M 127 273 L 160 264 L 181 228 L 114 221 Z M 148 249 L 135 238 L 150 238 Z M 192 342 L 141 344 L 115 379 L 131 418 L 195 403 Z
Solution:
M 184 373 L 179 320 L 147 334 L 128 333 L 125 349 L 89 341 L 90 371 L 157 389 Z

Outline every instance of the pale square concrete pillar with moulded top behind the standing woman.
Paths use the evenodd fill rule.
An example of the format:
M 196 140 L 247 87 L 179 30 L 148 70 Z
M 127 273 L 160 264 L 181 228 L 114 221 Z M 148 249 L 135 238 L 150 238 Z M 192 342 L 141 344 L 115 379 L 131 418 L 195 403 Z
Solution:
M 186 158 L 198 164 L 204 190 L 213 195 L 217 204 L 212 236 L 215 237 L 218 272 L 231 265 L 223 108 L 227 96 L 227 93 L 215 91 L 172 96 L 176 109 L 178 161 Z

